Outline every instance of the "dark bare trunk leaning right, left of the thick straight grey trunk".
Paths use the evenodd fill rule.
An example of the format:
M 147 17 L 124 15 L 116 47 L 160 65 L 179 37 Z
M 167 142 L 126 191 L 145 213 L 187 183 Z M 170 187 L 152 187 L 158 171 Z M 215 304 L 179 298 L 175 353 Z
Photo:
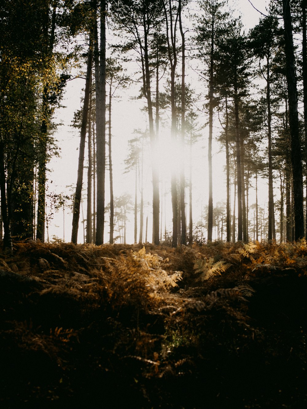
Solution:
M 88 109 L 89 109 L 89 101 L 90 101 L 92 63 L 93 63 L 93 37 L 92 37 L 92 33 L 90 33 L 90 44 L 88 47 L 88 62 L 87 62 L 87 67 L 86 67 L 86 81 L 85 81 L 84 102 L 83 102 L 83 109 L 82 109 L 82 122 L 81 122 L 81 131 L 80 131 L 78 176 L 77 176 L 76 192 L 74 195 L 74 208 L 73 208 L 73 213 L 72 213 L 71 241 L 74 244 L 77 244 L 77 238 L 78 238 L 80 202 L 81 202 L 81 194 L 82 194 L 83 169 L 84 169 L 84 149 L 85 149 L 86 126 L 87 126 L 87 120 L 88 120 Z

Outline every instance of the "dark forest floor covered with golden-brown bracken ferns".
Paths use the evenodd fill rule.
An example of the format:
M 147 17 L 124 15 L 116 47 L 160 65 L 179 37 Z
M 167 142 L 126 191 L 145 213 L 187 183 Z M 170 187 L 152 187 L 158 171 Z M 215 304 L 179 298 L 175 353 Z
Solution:
M 1 408 L 307 407 L 307 246 L 14 243 Z

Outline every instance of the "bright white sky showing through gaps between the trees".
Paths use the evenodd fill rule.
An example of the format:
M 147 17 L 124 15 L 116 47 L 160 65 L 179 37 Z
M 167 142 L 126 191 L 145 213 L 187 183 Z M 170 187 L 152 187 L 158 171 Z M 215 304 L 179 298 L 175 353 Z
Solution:
M 253 4 L 257 9 L 266 12 L 266 5 L 268 1 L 266 0 L 253 0 Z M 248 0 L 239 0 L 237 2 L 228 2 L 230 9 L 234 10 L 233 13 L 240 13 L 242 15 L 242 21 L 246 31 L 251 27 L 254 27 L 260 18 L 260 13 L 257 12 Z M 236 6 L 237 4 L 237 6 Z M 235 9 L 239 11 L 235 11 Z M 107 38 L 108 39 L 108 38 Z M 180 68 L 178 68 L 180 70 Z M 137 70 L 135 66 L 128 67 L 127 74 L 133 75 Z M 195 74 L 192 72 L 187 73 L 187 80 L 192 82 L 192 88 L 196 90 L 196 93 L 201 94 L 205 92 L 205 85 L 197 80 Z M 69 81 L 66 87 L 66 92 L 62 104 L 65 108 L 61 108 L 56 113 L 56 121 L 62 123 L 62 126 L 58 127 L 56 132 L 56 139 L 58 140 L 58 145 L 61 148 L 60 158 L 52 158 L 49 168 L 51 169 L 49 175 L 49 191 L 55 193 L 67 192 L 67 186 L 76 184 L 77 181 L 77 164 L 79 155 L 79 132 L 78 130 L 70 126 L 73 119 L 74 112 L 81 108 L 81 97 L 82 88 L 84 87 L 84 80 L 74 79 Z M 128 140 L 133 137 L 133 130 L 135 128 L 141 128 L 141 130 L 146 129 L 146 115 L 141 112 L 141 108 L 145 104 L 145 100 L 132 100 L 132 97 L 139 92 L 140 85 L 136 88 L 126 90 L 124 94 L 121 94 L 120 98 L 114 100 L 113 110 L 112 110 L 112 134 L 113 134 L 113 172 L 114 172 L 114 194 L 115 196 L 120 196 L 122 193 L 129 192 L 131 196 L 134 197 L 134 174 L 123 174 L 124 171 L 124 159 L 127 155 L 127 144 Z M 200 121 L 204 121 L 206 118 L 200 118 Z M 216 127 L 219 126 L 215 121 Z M 217 128 L 216 128 L 217 130 Z M 169 130 L 165 130 L 167 135 L 169 135 Z M 160 135 L 163 139 L 164 136 Z M 194 149 L 193 157 L 193 220 L 194 222 L 201 220 L 201 206 L 208 204 L 208 166 L 207 166 L 207 150 L 208 150 L 208 129 L 203 130 L 203 138 L 199 142 L 199 145 Z M 213 144 L 213 201 L 214 204 L 219 201 L 226 200 L 226 184 L 225 184 L 225 173 L 223 173 L 223 166 L 225 165 L 225 154 L 217 153 L 219 151 L 219 146 L 215 143 Z M 170 156 L 170 151 L 167 146 L 161 152 L 161 169 L 160 174 L 167 175 L 169 170 L 165 168 L 168 158 Z M 165 157 L 163 155 L 165 154 Z M 164 166 L 163 166 L 164 164 Z M 86 161 L 85 161 L 86 165 Z M 187 172 L 187 171 L 186 171 Z M 186 175 L 187 176 L 187 175 Z M 109 184 L 108 184 L 108 172 L 106 173 L 106 203 L 109 202 Z M 170 177 L 169 177 L 170 178 Z M 165 179 L 165 184 L 169 183 L 169 178 Z M 51 182 L 52 181 L 52 182 Z M 84 181 L 86 181 L 86 169 L 84 171 Z M 145 182 L 146 185 L 146 182 Z M 84 188 L 86 188 L 86 182 L 84 182 Z M 164 189 L 164 188 L 163 188 Z M 266 184 L 263 183 L 262 189 L 260 189 L 260 199 L 259 205 L 261 207 L 267 206 L 264 203 L 266 200 Z M 255 202 L 254 191 L 250 189 L 250 204 Z M 149 205 L 145 209 L 145 218 L 147 213 L 149 215 L 149 231 L 148 240 L 151 241 L 151 199 L 152 189 L 151 189 L 151 172 L 147 172 L 147 191 L 145 192 L 144 203 Z M 170 207 L 170 194 L 167 196 L 167 228 L 171 230 L 172 214 Z M 47 210 L 48 211 L 48 210 Z M 164 213 L 163 205 L 163 213 Z M 187 207 L 188 211 L 188 207 Z M 84 217 L 86 217 L 86 203 L 84 203 Z M 80 220 L 82 220 L 82 214 L 80 211 Z M 131 224 L 128 225 L 127 229 L 127 243 L 133 242 L 133 215 L 130 216 Z M 71 225 L 72 225 L 72 214 L 68 209 L 65 211 L 65 241 L 70 241 L 71 238 Z M 163 216 L 163 231 L 164 231 L 164 216 Z M 105 225 L 105 242 L 108 242 L 108 224 Z M 52 239 L 53 235 L 63 238 L 63 213 L 54 213 L 54 220 L 49 225 L 49 238 Z M 47 233 L 46 233 L 47 238 Z M 83 227 L 80 223 L 79 225 L 79 235 L 78 242 L 83 243 Z

